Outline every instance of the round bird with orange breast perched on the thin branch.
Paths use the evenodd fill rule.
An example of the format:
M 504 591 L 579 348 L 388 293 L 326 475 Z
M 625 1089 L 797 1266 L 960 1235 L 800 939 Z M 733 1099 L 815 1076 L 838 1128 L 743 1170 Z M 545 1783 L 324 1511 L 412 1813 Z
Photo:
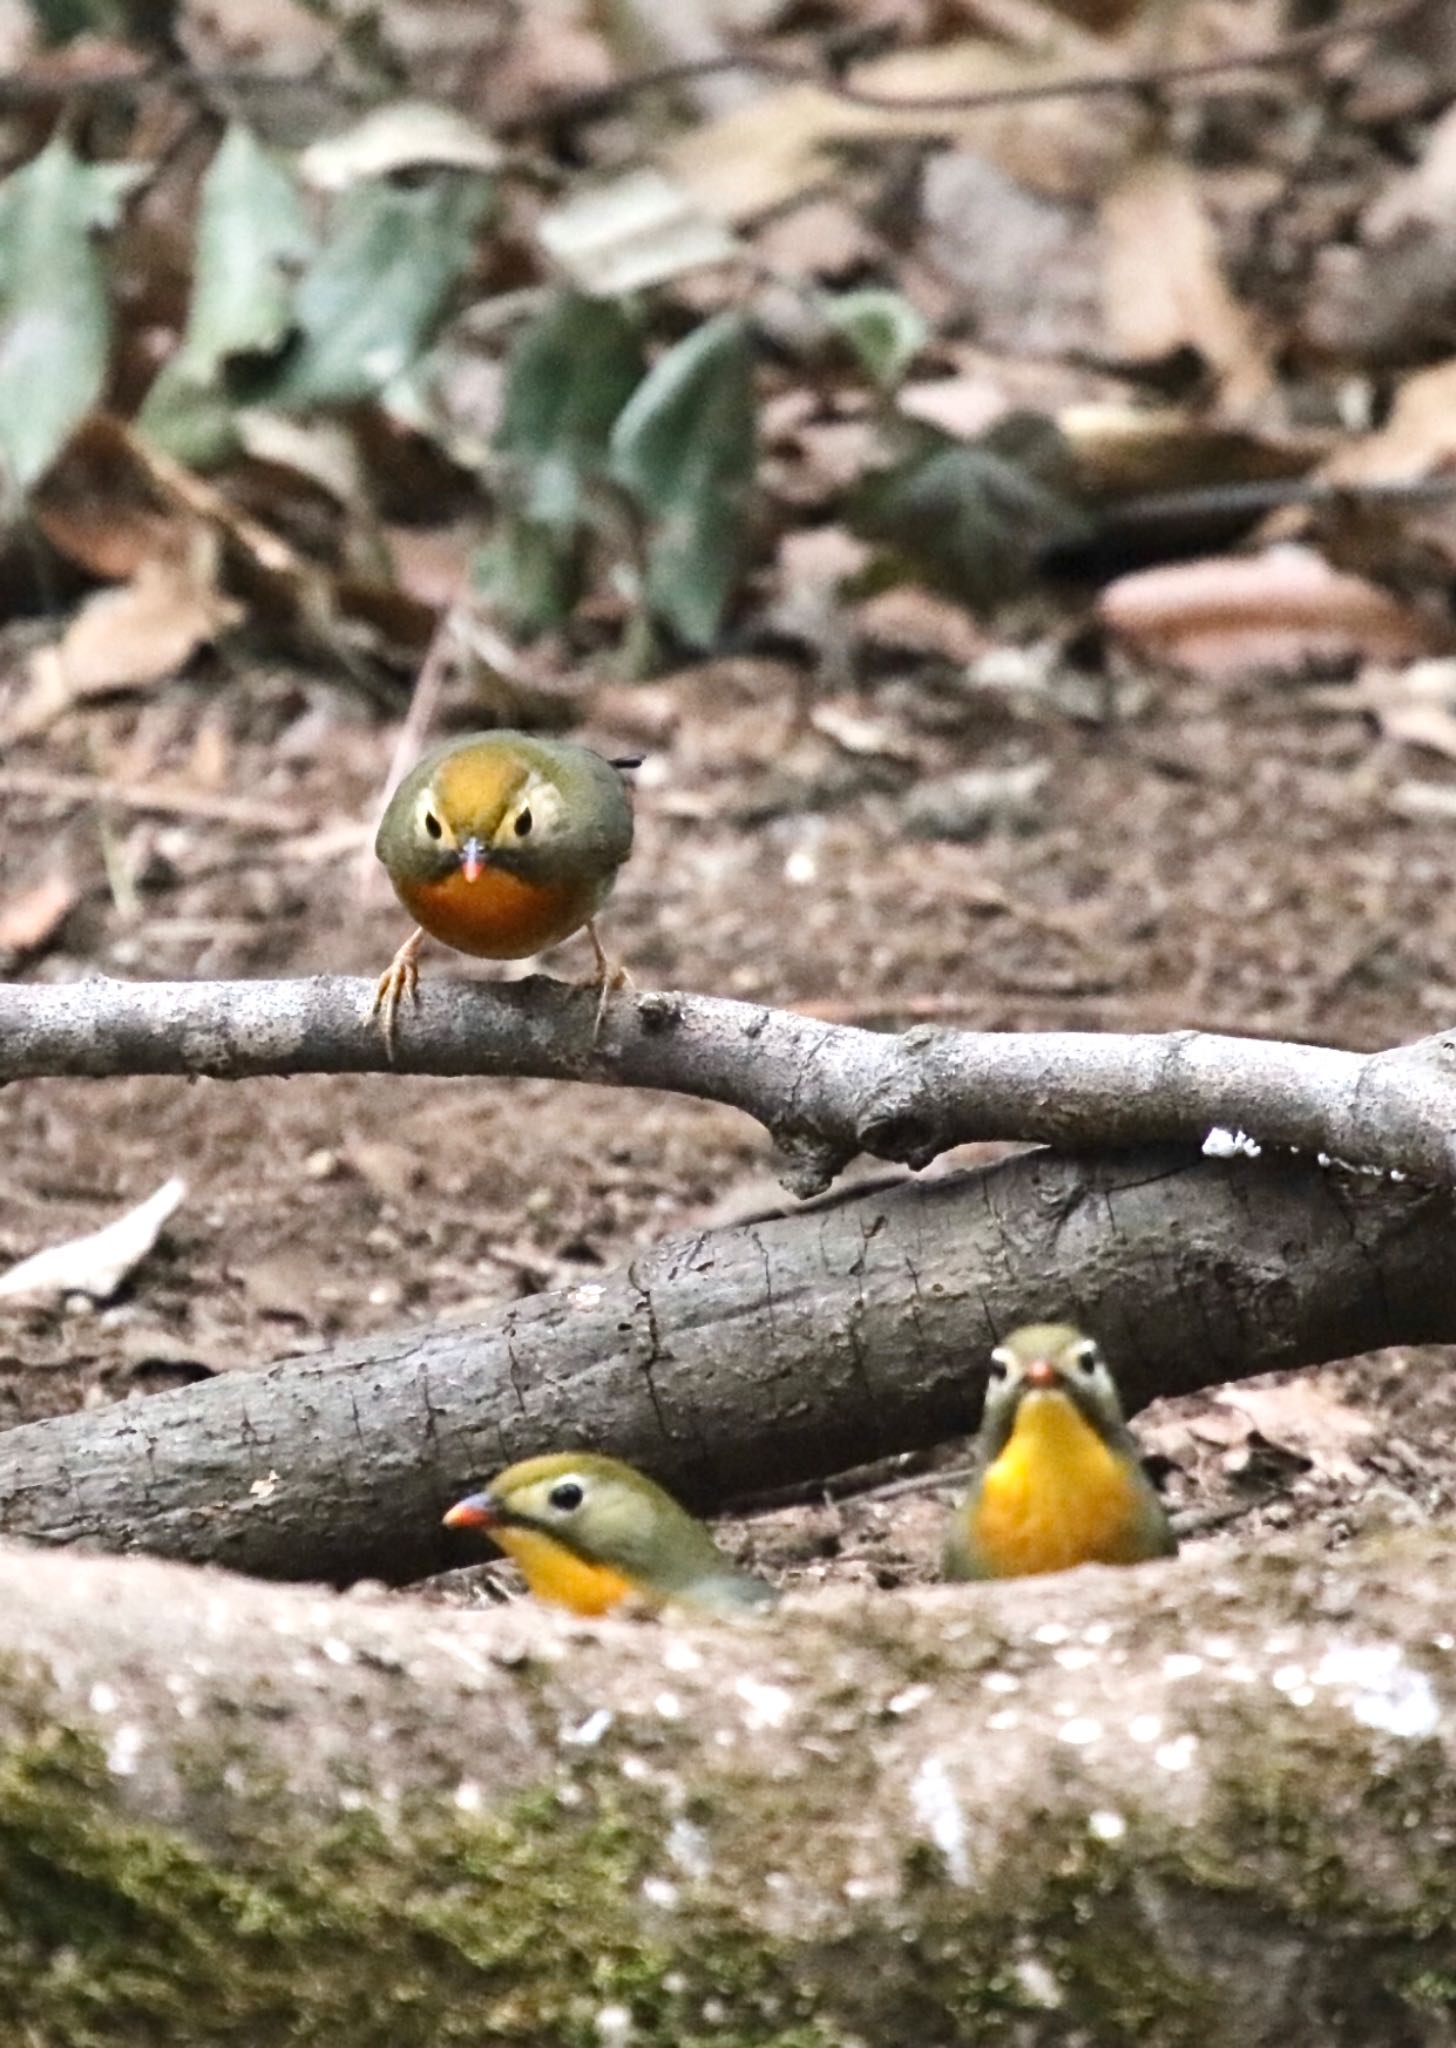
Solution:
M 375 991 L 393 1055 L 399 1001 L 420 981 L 424 934 L 485 961 L 524 961 L 586 928 L 602 999 L 612 969 L 594 918 L 633 850 L 623 770 L 569 739 L 496 731 L 453 739 L 416 762 L 379 823 L 375 852 L 416 920 Z

